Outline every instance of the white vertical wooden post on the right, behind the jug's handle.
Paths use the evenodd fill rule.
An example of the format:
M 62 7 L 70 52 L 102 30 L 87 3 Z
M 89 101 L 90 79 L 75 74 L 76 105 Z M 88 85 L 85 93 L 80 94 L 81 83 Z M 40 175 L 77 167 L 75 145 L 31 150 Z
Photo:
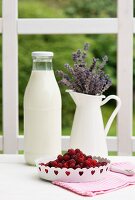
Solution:
M 118 154 L 131 155 L 133 112 L 133 0 L 118 0 Z

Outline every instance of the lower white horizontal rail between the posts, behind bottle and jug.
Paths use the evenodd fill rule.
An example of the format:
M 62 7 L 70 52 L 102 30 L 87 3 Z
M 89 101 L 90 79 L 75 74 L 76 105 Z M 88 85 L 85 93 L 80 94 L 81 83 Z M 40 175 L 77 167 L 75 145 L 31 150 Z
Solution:
M 107 146 L 109 151 L 117 151 L 117 137 L 107 137 Z M 69 136 L 62 136 L 62 150 L 65 151 L 69 148 Z M 24 148 L 24 136 L 18 136 L 18 149 Z

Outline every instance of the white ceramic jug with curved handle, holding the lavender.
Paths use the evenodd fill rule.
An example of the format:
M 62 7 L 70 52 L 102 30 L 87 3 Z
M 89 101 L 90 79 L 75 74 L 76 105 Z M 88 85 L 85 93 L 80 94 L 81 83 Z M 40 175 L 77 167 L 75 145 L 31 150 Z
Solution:
M 107 156 L 106 135 L 118 113 L 121 100 L 116 95 L 105 96 L 87 95 L 67 90 L 76 104 L 76 112 L 72 125 L 70 147 L 80 148 L 86 154 Z M 102 100 L 105 98 L 104 100 Z M 117 101 L 117 106 L 104 128 L 101 106 L 109 100 Z

